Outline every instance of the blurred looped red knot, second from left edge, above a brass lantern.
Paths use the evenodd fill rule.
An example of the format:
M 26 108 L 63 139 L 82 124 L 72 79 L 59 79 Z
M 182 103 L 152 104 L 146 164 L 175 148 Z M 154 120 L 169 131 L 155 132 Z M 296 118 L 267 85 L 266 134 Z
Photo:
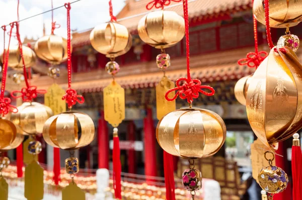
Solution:
M 17 95 L 18 93 L 21 93 L 21 95 Z M 45 93 L 46 90 L 37 90 L 37 86 L 30 86 L 28 88 L 22 88 L 21 91 L 12 91 L 11 96 L 16 99 L 22 97 L 23 101 L 31 102 L 34 98 L 38 96 L 38 94 Z

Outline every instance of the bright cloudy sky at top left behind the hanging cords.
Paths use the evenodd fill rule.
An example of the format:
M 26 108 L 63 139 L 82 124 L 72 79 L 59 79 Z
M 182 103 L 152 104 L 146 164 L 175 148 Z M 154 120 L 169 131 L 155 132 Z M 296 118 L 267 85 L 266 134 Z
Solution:
M 73 2 L 70 0 L 69 2 Z M 113 13 L 116 15 L 125 5 L 125 0 L 112 0 Z M 64 5 L 68 0 L 53 0 L 53 7 Z M 17 0 L 0 0 L 0 26 L 17 20 Z M 42 13 L 51 9 L 51 0 L 20 0 L 20 19 Z M 107 22 L 109 17 L 109 5 L 107 0 L 81 0 L 71 4 L 70 25 L 71 30 L 86 30 L 98 24 Z M 55 30 L 55 34 L 66 37 L 66 9 L 60 8 L 54 11 L 54 21 L 61 25 Z M 51 12 L 20 22 L 21 39 L 25 36 L 38 39 L 43 34 L 45 23 L 46 34 L 51 31 Z M 3 33 L 0 32 L 0 49 L 3 46 Z M 6 37 L 8 39 L 8 37 Z M 7 42 L 8 43 L 8 40 Z M 16 44 L 13 39 L 12 44 Z M 2 51 L 2 50 L 0 50 Z

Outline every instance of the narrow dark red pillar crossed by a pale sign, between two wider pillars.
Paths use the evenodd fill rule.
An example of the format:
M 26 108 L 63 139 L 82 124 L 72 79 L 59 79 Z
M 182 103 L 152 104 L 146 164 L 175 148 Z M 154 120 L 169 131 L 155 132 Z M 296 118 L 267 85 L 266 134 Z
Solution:
M 129 121 L 128 123 L 128 141 L 135 141 L 135 124 L 133 121 Z M 128 173 L 135 174 L 135 172 L 135 151 L 128 150 Z

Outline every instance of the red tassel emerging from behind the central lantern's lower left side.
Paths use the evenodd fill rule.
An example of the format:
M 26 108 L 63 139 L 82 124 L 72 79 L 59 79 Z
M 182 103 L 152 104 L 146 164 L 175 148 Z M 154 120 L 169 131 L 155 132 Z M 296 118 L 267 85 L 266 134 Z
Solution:
M 175 200 L 173 156 L 164 150 L 164 172 L 167 200 Z

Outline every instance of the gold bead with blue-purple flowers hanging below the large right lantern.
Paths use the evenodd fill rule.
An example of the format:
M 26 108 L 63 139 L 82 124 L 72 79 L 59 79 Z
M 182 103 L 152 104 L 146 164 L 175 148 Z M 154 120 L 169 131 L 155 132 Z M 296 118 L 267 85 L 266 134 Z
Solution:
M 259 185 L 269 193 L 279 193 L 286 189 L 288 184 L 287 174 L 276 166 L 264 167 L 258 175 Z

